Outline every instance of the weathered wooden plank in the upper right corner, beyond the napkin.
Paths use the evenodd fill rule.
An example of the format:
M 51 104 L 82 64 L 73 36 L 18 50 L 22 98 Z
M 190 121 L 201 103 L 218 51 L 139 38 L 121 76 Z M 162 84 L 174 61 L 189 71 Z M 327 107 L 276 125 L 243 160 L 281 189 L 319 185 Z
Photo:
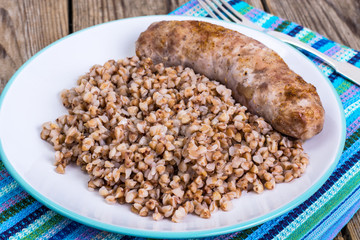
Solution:
M 308 27 L 325 37 L 360 49 L 360 1 L 264 0 L 266 9 L 279 17 Z

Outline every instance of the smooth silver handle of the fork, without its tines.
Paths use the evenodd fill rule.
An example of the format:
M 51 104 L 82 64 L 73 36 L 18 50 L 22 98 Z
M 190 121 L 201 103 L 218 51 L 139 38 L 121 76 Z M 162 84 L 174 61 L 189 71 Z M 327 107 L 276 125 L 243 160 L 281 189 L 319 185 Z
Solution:
M 338 62 L 335 59 L 316 50 L 315 48 L 307 45 L 306 43 L 301 42 L 299 39 L 290 37 L 289 35 L 286 35 L 284 33 L 276 31 L 268 31 L 266 33 L 282 40 L 283 42 L 289 43 L 293 46 L 304 49 L 305 51 L 314 54 L 315 56 L 321 58 L 324 62 L 329 64 L 331 67 L 333 67 L 338 73 L 345 76 L 357 85 L 360 85 L 360 68 L 357 68 L 348 62 Z

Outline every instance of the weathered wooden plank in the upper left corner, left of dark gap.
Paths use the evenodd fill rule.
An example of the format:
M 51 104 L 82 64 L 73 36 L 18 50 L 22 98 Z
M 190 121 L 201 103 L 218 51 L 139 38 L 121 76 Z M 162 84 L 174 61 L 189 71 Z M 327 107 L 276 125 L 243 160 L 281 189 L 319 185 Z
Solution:
M 40 49 L 68 34 L 67 0 L 0 1 L 0 92 Z

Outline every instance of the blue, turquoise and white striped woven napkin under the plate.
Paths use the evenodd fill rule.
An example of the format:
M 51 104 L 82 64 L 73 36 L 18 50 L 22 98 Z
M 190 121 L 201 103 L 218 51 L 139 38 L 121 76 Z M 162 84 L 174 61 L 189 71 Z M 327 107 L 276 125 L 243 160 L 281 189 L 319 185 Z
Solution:
M 339 61 L 347 61 L 360 67 L 360 52 L 356 50 L 247 3 L 227 1 L 259 26 L 284 32 Z M 207 16 L 196 0 L 191 0 L 171 14 Z M 287 214 L 244 231 L 208 239 L 332 239 L 360 208 L 360 88 L 342 78 L 319 59 L 308 57 L 328 76 L 345 109 L 346 143 L 337 168 L 313 196 Z M 24 192 L 0 161 L 0 239 L 9 238 L 136 237 L 100 231 L 55 213 Z

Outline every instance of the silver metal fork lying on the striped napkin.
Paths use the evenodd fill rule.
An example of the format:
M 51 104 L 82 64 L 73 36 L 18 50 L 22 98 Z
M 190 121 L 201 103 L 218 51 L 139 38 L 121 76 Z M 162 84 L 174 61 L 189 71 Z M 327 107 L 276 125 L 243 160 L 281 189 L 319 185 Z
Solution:
M 248 20 L 245 16 L 241 15 L 238 11 L 236 11 L 229 3 L 224 0 L 198 0 L 200 6 L 205 9 L 206 12 L 213 18 L 225 20 L 228 22 L 235 22 L 238 24 L 242 24 L 244 26 L 259 30 L 261 32 L 267 33 L 283 42 L 286 42 L 290 45 L 301 48 L 307 52 L 312 53 L 317 56 L 332 68 L 335 69 L 336 72 L 348 78 L 350 81 L 360 85 L 360 68 L 351 65 L 348 62 L 338 62 L 335 59 L 325 55 L 322 52 L 319 52 L 315 48 L 301 42 L 297 38 L 293 38 L 287 34 L 276 32 L 272 30 L 267 30 L 262 28 L 255 23 Z

